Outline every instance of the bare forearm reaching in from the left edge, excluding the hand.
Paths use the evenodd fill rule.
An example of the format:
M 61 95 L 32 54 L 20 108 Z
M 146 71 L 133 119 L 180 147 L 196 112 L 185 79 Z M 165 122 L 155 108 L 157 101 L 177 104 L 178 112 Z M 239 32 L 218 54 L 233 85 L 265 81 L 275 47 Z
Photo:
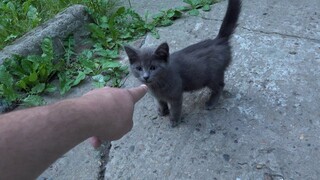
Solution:
M 33 179 L 92 135 L 85 105 L 75 101 L 0 116 L 0 179 Z

